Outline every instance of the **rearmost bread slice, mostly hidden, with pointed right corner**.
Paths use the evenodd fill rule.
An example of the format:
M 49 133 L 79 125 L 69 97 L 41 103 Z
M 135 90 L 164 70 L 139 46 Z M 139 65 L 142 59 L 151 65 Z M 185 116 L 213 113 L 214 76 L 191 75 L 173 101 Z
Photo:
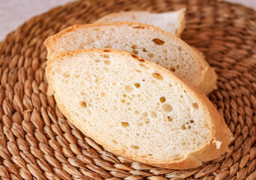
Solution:
M 121 11 L 119 13 L 110 13 L 107 16 L 101 17 L 101 19 L 95 21 L 95 23 L 122 21 L 132 21 L 153 25 L 179 37 L 185 28 L 185 8 L 165 13 L 149 13 L 148 11 Z

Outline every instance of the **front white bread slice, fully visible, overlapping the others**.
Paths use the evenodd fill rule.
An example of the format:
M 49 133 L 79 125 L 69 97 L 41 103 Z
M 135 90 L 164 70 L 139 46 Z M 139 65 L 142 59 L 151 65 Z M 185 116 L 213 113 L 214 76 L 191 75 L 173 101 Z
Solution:
M 46 75 L 62 113 L 109 151 L 188 169 L 228 150 L 232 133 L 203 92 L 130 52 L 62 52 Z

